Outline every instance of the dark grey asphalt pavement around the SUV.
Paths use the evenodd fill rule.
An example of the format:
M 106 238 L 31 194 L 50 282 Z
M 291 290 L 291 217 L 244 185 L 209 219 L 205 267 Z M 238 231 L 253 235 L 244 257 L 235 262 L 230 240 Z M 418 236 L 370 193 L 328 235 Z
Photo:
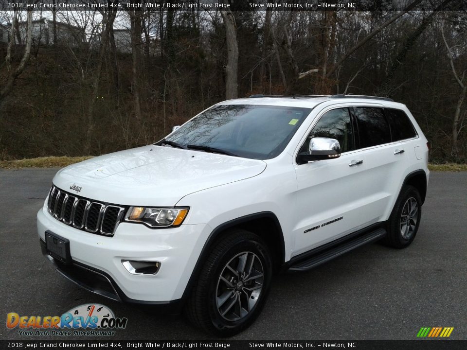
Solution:
M 41 255 L 36 212 L 57 169 L 0 171 L 0 339 L 6 314 L 61 315 L 102 303 L 128 317 L 122 339 L 203 339 L 183 317 L 162 317 L 90 294 Z M 414 339 L 420 327 L 467 339 L 467 172 L 431 173 L 413 244 L 367 245 L 306 273 L 278 276 L 263 313 L 235 339 Z

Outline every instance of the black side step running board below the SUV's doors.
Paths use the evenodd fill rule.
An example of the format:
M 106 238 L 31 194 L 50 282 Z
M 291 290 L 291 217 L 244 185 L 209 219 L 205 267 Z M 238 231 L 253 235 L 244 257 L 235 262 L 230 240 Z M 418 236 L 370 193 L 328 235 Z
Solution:
M 377 228 L 374 231 L 370 231 L 363 235 L 353 238 L 339 245 L 330 247 L 325 251 L 317 252 L 315 255 L 312 255 L 306 260 L 301 259 L 299 262 L 292 263 L 289 267 L 290 271 L 306 271 L 310 270 L 313 267 L 316 267 L 324 262 L 337 258 L 342 254 L 347 253 L 348 251 L 359 247 L 360 245 L 365 245 L 371 242 L 375 242 L 380 238 L 386 235 L 386 230 L 384 228 Z

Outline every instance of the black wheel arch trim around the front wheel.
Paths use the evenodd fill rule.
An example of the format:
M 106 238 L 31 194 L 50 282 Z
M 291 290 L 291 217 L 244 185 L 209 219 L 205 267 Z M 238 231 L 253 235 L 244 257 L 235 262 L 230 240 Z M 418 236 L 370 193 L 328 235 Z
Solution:
M 254 214 L 249 214 L 235 218 L 220 224 L 213 229 L 208 239 L 201 249 L 198 260 L 195 264 L 195 268 L 191 273 L 190 279 L 183 292 L 183 302 L 189 297 L 196 280 L 198 279 L 199 272 L 201 271 L 202 265 L 208 257 L 211 248 L 226 234 L 231 228 L 242 228 L 252 233 L 257 234 L 261 237 L 271 253 L 271 259 L 273 262 L 273 268 L 277 271 L 280 266 L 285 262 L 285 242 L 282 228 L 279 223 L 277 216 L 271 211 L 262 211 Z M 270 234 L 272 233 L 272 234 Z

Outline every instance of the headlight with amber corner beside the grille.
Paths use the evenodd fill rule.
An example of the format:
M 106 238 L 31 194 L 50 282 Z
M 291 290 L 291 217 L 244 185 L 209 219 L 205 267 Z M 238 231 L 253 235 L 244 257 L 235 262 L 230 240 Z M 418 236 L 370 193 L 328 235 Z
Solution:
M 137 222 L 149 227 L 180 226 L 188 213 L 188 208 L 144 208 L 130 207 L 125 221 Z

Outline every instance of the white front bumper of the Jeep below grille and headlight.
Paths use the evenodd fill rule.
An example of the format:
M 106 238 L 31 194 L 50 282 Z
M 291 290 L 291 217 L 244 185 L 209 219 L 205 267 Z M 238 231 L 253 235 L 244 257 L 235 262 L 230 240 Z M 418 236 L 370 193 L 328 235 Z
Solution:
M 45 231 L 70 241 L 72 263 L 58 262 L 45 251 Z M 181 225 L 151 229 L 121 223 L 113 237 L 97 235 L 67 226 L 54 219 L 45 206 L 37 213 L 41 247 L 57 270 L 76 284 L 104 297 L 144 304 L 177 304 L 207 237 L 208 225 Z M 158 261 L 156 275 L 133 275 L 122 260 Z

